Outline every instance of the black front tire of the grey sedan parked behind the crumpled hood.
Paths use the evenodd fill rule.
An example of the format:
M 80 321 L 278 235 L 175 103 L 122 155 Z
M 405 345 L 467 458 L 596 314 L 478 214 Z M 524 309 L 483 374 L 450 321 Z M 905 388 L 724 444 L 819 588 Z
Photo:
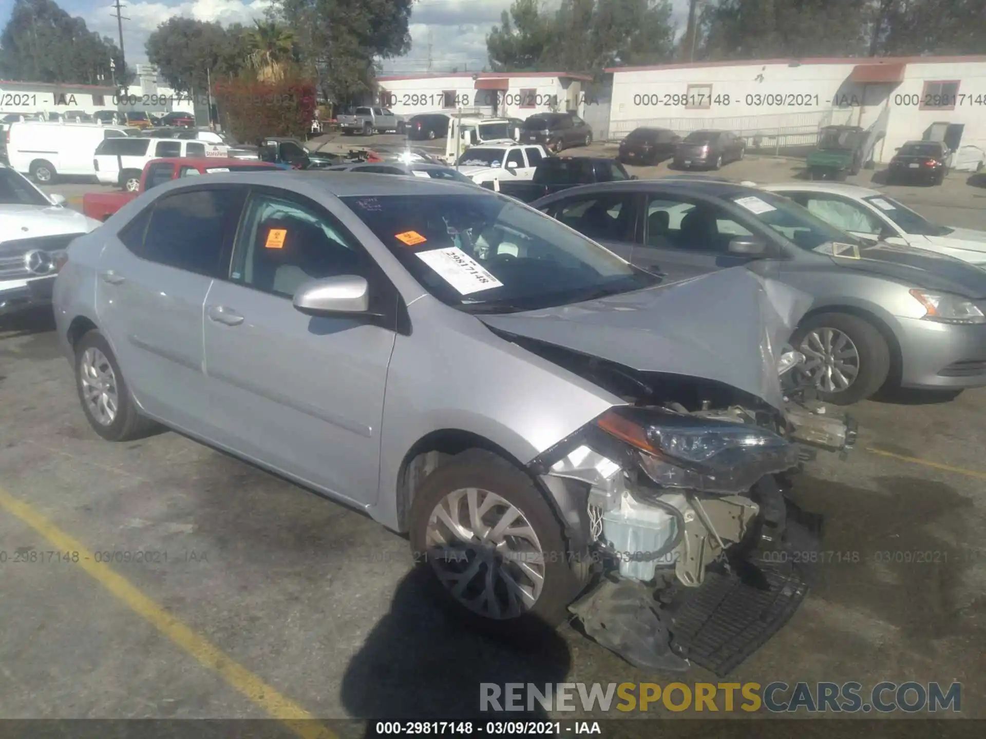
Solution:
M 819 382 L 816 385 L 819 400 L 833 405 L 851 405 L 869 398 L 880 389 L 890 372 L 890 349 L 886 340 L 872 323 L 863 318 L 848 313 L 819 313 L 798 327 L 791 342 L 808 360 L 806 370 L 810 370 L 816 361 L 824 367 L 825 360 L 818 359 L 824 352 L 819 352 L 816 339 L 820 334 L 822 343 L 825 342 L 825 329 L 841 333 L 851 342 L 857 360 L 847 364 L 855 364 L 857 373 L 844 389 L 824 388 Z M 810 337 L 812 333 L 815 337 Z M 833 344 L 837 344 L 835 338 Z M 825 370 L 820 371 L 824 373 Z

